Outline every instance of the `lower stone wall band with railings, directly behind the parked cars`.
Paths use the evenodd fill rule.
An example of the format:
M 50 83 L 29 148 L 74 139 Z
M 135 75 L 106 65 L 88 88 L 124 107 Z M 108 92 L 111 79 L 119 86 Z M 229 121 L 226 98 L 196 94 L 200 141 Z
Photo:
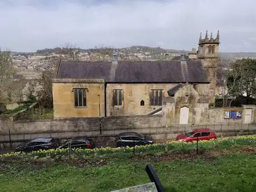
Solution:
M 237 126 L 208 126 L 213 129 L 217 137 L 224 136 L 239 136 L 239 135 L 254 135 L 256 134 L 256 125 L 248 124 L 243 125 L 243 127 Z M 93 141 L 100 146 L 115 146 L 115 137 L 120 132 L 124 131 L 136 131 L 144 135 L 151 135 L 155 142 L 164 143 L 166 141 L 174 140 L 178 134 L 185 131 L 189 131 L 191 127 L 160 127 L 160 128 L 150 128 L 150 129 L 126 129 L 126 130 L 108 130 L 106 132 L 102 131 L 85 131 L 85 130 L 70 130 L 70 131 L 52 131 L 52 132 L 35 132 L 35 133 L 10 133 L 10 134 L 0 134 L 0 152 L 1 150 L 11 150 L 14 147 L 27 142 L 35 137 L 39 136 L 52 136 L 55 137 L 58 142 L 63 142 L 75 136 L 88 136 Z M 194 129 L 195 127 L 193 127 Z

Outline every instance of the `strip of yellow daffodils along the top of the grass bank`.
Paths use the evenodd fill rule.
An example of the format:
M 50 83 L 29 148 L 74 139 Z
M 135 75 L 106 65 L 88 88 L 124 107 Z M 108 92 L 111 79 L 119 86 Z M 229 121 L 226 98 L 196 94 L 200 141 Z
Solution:
M 216 140 L 204 140 L 199 141 L 199 150 L 209 150 L 209 149 L 230 149 L 237 146 L 245 145 L 256 145 L 256 136 L 238 136 L 229 137 Z M 159 151 L 172 151 L 175 153 L 185 153 L 196 149 L 196 141 L 194 142 L 181 142 L 181 141 L 169 141 L 166 144 L 152 144 L 152 145 L 142 145 L 135 146 L 136 153 L 147 153 L 147 152 L 159 152 Z M 80 155 L 92 156 L 92 155 L 107 155 L 107 154 L 131 154 L 133 152 L 133 147 L 101 147 L 95 149 L 76 149 Z M 30 157 L 55 157 L 62 154 L 67 154 L 68 149 L 51 149 L 51 150 L 39 150 L 30 153 L 24 152 L 11 152 L 8 154 L 0 155 L 0 157 L 9 156 L 30 156 Z

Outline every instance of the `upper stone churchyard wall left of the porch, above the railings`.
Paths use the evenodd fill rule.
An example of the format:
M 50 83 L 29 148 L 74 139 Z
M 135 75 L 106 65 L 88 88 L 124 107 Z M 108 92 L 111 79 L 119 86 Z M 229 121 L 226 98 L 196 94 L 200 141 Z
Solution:
M 163 127 L 161 115 L 91 117 L 63 120 L 24 120 L 0 124 L 0 134 L 54 131 L 100 131 Z

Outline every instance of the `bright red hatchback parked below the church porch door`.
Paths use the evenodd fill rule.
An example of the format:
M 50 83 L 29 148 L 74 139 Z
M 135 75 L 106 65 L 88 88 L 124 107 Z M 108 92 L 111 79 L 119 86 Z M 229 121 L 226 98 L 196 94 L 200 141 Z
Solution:
M 210 140 L 210 139 L 217 138 L 213 130 L 200 128 L 200 129 L 194 129 L 193 131 L 186 132 L 185 134 L 180 134 L 176 137 L 176 140 L 192 142 L 192 141 L 196 141 L 196 137 L 198 137 L 198 140 Z

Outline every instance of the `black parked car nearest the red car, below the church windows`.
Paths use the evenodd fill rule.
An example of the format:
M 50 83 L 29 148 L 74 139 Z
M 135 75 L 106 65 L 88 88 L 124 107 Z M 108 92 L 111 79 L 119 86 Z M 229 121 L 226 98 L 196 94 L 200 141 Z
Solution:
M 139 134 L 137 132 L 122 132 L 116 137 L 117 147 L 134 146 L 135 145 L 149 145 L 153 144 L 151 136 Z

